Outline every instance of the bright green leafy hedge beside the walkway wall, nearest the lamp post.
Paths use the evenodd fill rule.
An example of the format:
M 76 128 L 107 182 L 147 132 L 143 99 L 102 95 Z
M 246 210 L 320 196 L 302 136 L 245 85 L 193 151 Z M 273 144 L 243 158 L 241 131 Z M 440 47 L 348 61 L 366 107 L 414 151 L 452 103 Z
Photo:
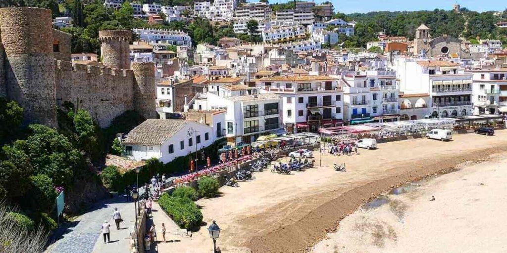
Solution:
M 158 203 L 180 228 L 191 229 L 202 222 L 201 210 L 190 198 L 170 197 L 163 193 Z

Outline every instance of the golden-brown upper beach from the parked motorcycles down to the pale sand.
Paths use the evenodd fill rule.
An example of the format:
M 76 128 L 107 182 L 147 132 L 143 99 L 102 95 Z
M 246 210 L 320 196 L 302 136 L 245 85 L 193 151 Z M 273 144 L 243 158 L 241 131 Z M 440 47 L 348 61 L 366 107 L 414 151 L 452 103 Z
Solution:
M 392 187 L 502 152 L 507 152 L 507 131 L 497 131 L 490 137 L 455 135 L 451 142 L 414 139 L 384 143 L 376 150 L 360 149 L 359 155 L 324 155 L 321 166 L 317 152 L 316 168 L 291 175 L 269 171 L 255 173 L 252 181 L 240 182 L 239 188 L 222 187 L 220 197 L 200 199 L 197 204 L 202 207 L 204 222 L 209 224 L 215 220 L 223 229 L 217 242 L 222 252 L 311 251 L 336 230 L 342 219 Z M 345 162 L 347 172 L 334 171 L 333 162 Z M 504 178 L 498 180 L 505 182 Z M 443 196 L 434 195 L 437 202 L 443 201 Z M 424 195 L 423 200 L 427 202 L 428 196 Z M 400 243 L 402 232 L 397 232 L 395 238 L 399 238 L 396 241 Z M 384 246 L 389 243 L 385 240 Z M 420 246 L 428 243 L 436 242 L 422 240 Z M 329 247 L 334 248 L 334 245 Z M 212 252 L 212 241 L 206 227 L 202 226 L 191 238 L 171 244 L 171 249 Z M 339 250 L 342 252 L 341 248 Z M 379 251 L 383 251 L 382 248 Z M 399 248 L 393 251 L 400 252 Z

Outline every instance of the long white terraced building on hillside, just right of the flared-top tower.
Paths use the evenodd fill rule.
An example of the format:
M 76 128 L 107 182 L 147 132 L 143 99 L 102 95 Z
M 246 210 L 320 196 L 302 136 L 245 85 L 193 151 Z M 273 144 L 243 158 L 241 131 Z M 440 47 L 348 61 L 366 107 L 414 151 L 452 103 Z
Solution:
M 139 35 L 141 41 L 150 45 L 170 44 L 192 47 L 192 38 L 183 31 L 148 28 L 134 28 L 132 30 Z

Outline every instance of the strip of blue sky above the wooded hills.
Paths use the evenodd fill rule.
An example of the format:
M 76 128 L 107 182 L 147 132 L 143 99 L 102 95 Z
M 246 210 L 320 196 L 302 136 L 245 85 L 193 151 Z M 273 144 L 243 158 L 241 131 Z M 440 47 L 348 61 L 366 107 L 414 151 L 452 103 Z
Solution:
M 315 0 L 316 3 L 325 0 Z M 250 0 L 249 2 L 257 2 Z M 286 3 L 287 0 L 269 0 L 270 4 Z M 335 11 L 342 13 L 366 13 L 373 11 L 419 11 L 444 9 L 450 10 L 454 4 L 460 4 L 472 11 L 500 11 L 507 8 L 507 0 L 331 0 Z

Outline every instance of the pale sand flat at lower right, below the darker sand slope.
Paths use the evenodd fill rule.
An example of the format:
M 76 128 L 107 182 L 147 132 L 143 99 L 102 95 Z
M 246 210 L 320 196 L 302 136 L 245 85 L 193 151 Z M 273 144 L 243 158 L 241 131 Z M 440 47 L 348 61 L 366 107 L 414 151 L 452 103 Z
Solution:
M 380 206 L 343 219 L 313 252 L 507 251 L 505 154 L 385 194 L 372 203 Z

